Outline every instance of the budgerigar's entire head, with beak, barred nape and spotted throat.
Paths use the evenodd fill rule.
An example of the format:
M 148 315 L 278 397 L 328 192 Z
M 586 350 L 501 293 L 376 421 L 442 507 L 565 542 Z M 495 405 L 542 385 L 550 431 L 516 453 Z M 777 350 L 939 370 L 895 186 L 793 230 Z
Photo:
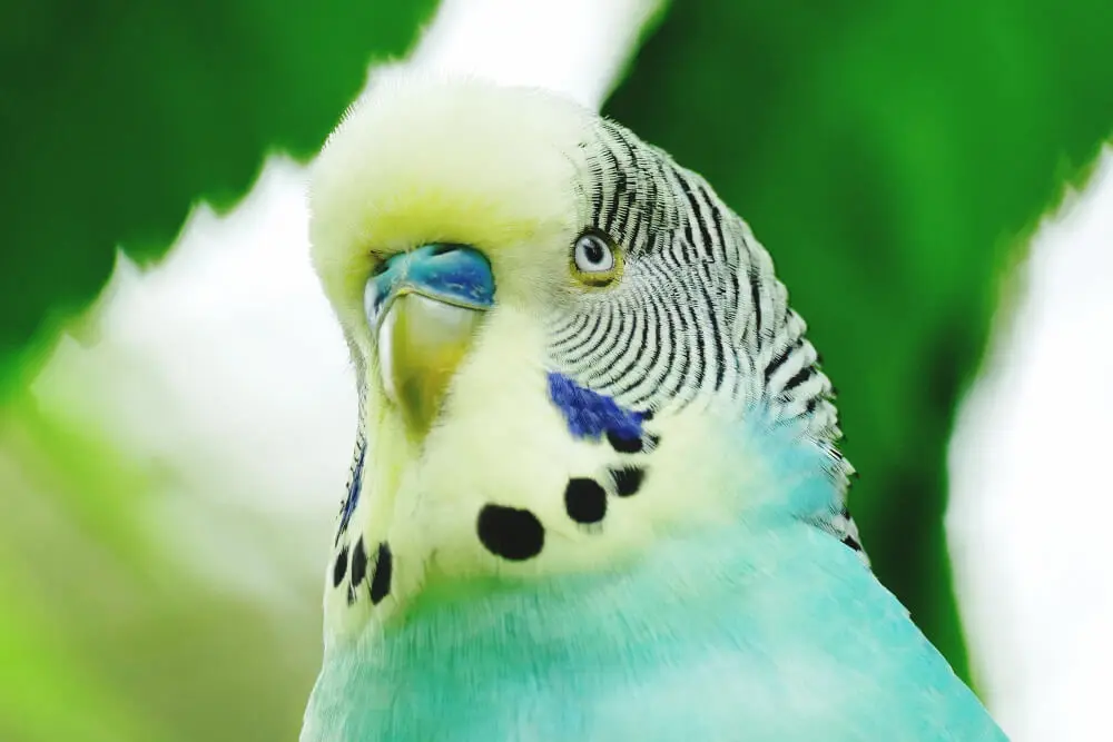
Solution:
M 621 575 L 759 506 L 769 467 L 725 434 L 746 421 L 825 452 L 841 493 L 830 384 L 768 254 L 621 126 L 540 90 L 387 79 L 328 139 L 311 211 L 359 392 L 331 635 L 439 585 Z

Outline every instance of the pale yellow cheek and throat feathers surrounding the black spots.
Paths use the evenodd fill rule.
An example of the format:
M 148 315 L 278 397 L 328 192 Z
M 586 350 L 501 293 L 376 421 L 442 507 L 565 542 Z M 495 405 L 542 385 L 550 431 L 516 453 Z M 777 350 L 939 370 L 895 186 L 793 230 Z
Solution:
M 746 447 L 712 443 L 725 436 L 712 429 L 716 416 L 707 410 L 661 419 L 654 428 L 659 446 L 641 453 L 574 438 L 549 399 L 546 340 L 531 314 L 513 306 L 492 311 L 453 380 L 443 423 L 420 451 L 406 449 L 396 416 L 368 378 L 371 465 L 353 523 L 365 543 L 391 545 L 393 584 L 376 609 L 363 601 L 342 611 L 345 625 L 370 615 L 385 620 L 446 578 L 622 571 L 678 530 L 737 517 L 737 493 L 760 488 L 758 459 L 750 461 Z M 611 472 L 622 467 L 644 472 L 636 496 L 615 492 Z M 740 479 L 738 472 L 748 474 Z M 573 517 L 571 478 L 590 478 L 605 489 L 598 522 Z M 484 543 L 477 524 L 492 505 L 536 520 L 543 538 L 536 553 L 506 558 Z

